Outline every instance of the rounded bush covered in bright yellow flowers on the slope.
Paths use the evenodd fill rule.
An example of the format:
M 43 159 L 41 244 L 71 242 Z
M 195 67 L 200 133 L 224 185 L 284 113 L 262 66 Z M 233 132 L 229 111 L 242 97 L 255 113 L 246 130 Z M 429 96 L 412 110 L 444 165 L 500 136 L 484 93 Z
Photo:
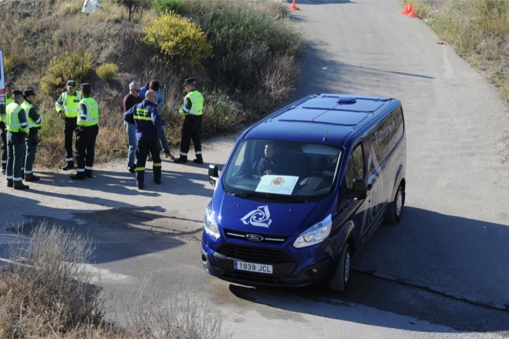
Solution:
M 190 56 L 197 65 L 211 55 L 212 47 L 201 27 L 175 12 L 166 12 L 145 26 L 143 42 L 153 45 L 170 58 L 185 60 Z

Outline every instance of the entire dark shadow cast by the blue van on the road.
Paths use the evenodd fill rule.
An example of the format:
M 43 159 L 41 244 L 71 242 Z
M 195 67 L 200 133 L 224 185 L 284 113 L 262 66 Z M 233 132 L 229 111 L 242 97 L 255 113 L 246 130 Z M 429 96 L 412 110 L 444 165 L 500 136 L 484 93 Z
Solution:
M 406 207 L 399 224 L 382 224 L 354 258 L 347 293 L 334 294 L 323 286 L 230 285 L 230 291 L 278 309 L 375 326 L 427 331 L 389 316 L 359 316 L 359 307 L 459 331 L 509 334 L 509 312 L 501 310 L 509 304 L 507 243 L 507 225 Z

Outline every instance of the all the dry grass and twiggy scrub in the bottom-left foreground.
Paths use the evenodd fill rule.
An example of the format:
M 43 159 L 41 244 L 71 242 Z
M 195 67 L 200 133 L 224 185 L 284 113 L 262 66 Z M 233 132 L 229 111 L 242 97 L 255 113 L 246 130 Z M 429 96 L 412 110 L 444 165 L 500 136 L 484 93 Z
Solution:
M 218 339 L 219 314 L 188 289 L 171 302 L 139 295 L 127 304 L 127 326 L 106 321 L 106 296 L 89 273 L 88 238 L 39 224 L 29 242 L 11 245 L 17 262 L 0 267 L 0 338 Z

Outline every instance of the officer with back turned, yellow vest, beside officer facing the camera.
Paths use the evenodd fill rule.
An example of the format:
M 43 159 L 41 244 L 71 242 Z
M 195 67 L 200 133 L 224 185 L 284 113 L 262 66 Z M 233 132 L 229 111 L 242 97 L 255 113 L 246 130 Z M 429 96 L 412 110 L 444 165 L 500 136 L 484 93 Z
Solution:
M 95 140 L 99 133 L 99 104 L 90 96 L 90 83 L 82 83 L 76 127 L 76 162 L 78 168 L 71 179 L 92 178 Z

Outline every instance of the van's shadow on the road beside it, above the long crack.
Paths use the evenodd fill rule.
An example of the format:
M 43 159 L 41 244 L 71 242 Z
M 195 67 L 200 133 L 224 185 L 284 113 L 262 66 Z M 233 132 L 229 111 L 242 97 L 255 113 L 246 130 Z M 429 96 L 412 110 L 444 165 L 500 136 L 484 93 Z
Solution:
M 509 309 L 509 226 L 407 206 L 382 225 L 353 267 L 460 299 Z

